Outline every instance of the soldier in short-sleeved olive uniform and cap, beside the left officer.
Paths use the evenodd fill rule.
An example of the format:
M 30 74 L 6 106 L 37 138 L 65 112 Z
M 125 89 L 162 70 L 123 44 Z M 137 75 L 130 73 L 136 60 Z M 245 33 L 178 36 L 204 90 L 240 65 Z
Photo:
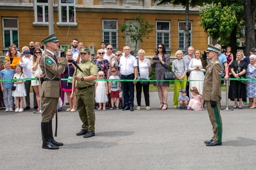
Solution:
M 71 97 L 76 95 L 76 105 L 83 123 L 81 131 L 76 135 L 83 135 L 83 137 L 88 138 L 95 135 L 94 80 L 97 79 L 98 66 L 90 61 L 90 49 L 82 48 L 79 53 L 81 63 L 78 66 L 83 72 L 78 69 L 74 72 L 72 89 L 74 86 L 78 89 L 71 93 Z

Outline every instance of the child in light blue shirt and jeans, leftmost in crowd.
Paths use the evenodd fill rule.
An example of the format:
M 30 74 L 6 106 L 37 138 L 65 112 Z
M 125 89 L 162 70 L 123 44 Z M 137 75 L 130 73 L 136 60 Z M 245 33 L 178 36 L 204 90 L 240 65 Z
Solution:
M 11 62 L 8 59 L 4 59 L 4 70 L 1 70 L 0 72 L 0 79 L 12 79 L 14 70 L 10 69 Z M 12 97 L 12 81 L 1 81 L 1 91 L 3 91 L 4 96 L 4 105 L 5 105 L 5 112 L 12 112 L 12 106 L 13 106 L 13 97 Z M 9 101 L 8 101 L 9 98 Z

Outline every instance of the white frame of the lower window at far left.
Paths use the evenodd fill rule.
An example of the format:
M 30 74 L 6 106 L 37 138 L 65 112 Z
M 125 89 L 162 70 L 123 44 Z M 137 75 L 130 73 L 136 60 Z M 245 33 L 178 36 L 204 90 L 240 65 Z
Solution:
M 5 27 L 4 26 L 4 19 L 15 19 L 17 20 L 17 27 Z M 2 18 L 2 27 L 3 27 L 3 49 L 8 49 L 8 47 L 10 47 L 12 45 L 13 42 L 13 31 L 17 31 L 17 38 L 18 38 L 18 42 L 17 42 L 17 47 L 19 47 L 19 20 L 16 17 L 3 17 Z M 4 31 L 10 31 L 10 46 L 8 47 L 4 47 L 5 44 L 5 37 L 4 37 Z M 16 42 L 15 42 L 16 43 Z M 19 50 L 19 48 L 17 48 L 17 50 Z

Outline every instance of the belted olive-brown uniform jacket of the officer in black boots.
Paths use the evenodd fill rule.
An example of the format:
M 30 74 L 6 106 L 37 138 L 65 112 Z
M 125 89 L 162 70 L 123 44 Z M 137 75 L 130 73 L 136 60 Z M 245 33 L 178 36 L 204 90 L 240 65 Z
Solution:
M 57 65 L 55 65 L 49 57 L 53 58 Z M 56 57 L 47 50 L 44 51 L 44 54 L 39 61 L 44 79 L 60 78 L 60 74 L 64 71 L 66 64 L 66 58 L 61 58 L 58 63 Z M 60 81 L 44 81 L 42 84 L 41 96 L 59 98 L 61 96 Z

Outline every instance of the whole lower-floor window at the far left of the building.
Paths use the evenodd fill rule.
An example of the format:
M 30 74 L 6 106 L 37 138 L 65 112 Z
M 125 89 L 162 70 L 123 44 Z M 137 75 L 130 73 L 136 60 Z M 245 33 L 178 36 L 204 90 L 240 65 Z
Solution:
M 15 43 L 19 47 L 18 19 L 3 18 L 3 47 L 8 48 Z

